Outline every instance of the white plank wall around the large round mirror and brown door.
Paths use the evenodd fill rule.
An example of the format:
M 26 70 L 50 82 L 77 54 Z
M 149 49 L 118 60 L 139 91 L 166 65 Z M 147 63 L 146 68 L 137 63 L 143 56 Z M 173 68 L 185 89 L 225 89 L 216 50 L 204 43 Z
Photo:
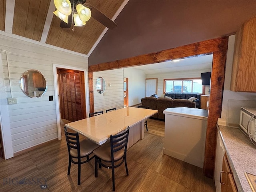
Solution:
M 2 125 L 2 129 L 10 126 L 13 152 L 58 138 L 54 94 L 53 64 L 74 66 L 88 71 L 88 58 L 86 55 L 64 52 L 53 46 L 43 46 L 40 42 L 21 38 L 5 32 L 0 32 L 0 49 L 8 53 L 2 56 L 0 78 L 4 78 L 6 98 L 17 98 L 17 104 L 8 105 L 9 125 Z M 10 77 L 8 75 L 8 67 Z M 40 98 L 29 98 L 19 86 L 20 76 L 29 69 L 35 69 L 46 77 L 48 88 Z M 11 82 L 11 89 L 9 84 Z M 88 83 L 88 82 L 86 82 Z M 54 96 L 49 101 L 49 96 Z M 1 110 L 1 117 L 4 111 Z M 8 138 L 7 135 L 4 135 Z

